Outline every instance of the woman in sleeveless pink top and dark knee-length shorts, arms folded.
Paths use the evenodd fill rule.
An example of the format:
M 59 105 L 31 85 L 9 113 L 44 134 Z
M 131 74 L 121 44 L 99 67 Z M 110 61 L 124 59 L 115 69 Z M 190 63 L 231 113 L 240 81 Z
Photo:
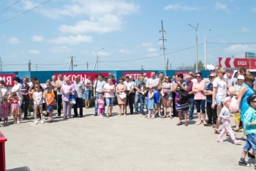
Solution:
M 206 88 L 206 81 L 202 79 L 202 73 L 197 72 L 196 73 L 197 81 L 193 83 L 192 91 L 195 94 L 195 106 L 197 107 L 197 116 L 198 116 L 198 123 L 197 125 L 200 125 L 202 123 L 201 121 L 201 109 L 203 114 L 203 125 L 204 126 L 210 126 L 208 123 L 206 123 L 206 95 L 203 93 L 203 91 Z

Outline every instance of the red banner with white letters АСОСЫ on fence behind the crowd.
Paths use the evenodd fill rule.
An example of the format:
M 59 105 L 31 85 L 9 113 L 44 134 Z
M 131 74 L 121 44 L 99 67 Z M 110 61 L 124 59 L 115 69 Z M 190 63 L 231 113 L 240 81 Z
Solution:
M 63 79 L 65 79 L 65 77 L 69 77 L 70 81 L 73 83 L 75 81 L 75 77 L 76 76 L 80 76 L 80 81 L 84 82 L 89 75 L 91 75 L 91 81 L 93 82 L 95 80 L 95 75 L 103 75 L 105 78 L 108 78 L 108 72 L 85 72 L 85 73 L 77 73 L 77 72 L 73 72 L 73 73 L 61 73 L 63 76 Z M 56 76 L 56 80 L 59 79 L 59 74 L 55 73 Z M 105 80 L 105 79 L 104 79 Z

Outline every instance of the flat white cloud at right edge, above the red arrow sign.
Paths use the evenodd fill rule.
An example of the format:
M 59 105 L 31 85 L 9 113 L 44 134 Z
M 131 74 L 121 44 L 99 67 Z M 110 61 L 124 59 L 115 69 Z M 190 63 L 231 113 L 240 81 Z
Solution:
M 227 47 L 224 50 L 228 53 L 245 53 L 250 51 L 256 51 L 256 45 L 230 45 L 230 47 Z

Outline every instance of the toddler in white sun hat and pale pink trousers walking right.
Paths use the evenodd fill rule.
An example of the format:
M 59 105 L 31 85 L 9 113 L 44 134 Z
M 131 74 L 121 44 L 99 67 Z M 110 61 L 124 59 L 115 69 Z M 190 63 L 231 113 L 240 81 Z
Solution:
M 223 100 L 223 107 L 222 110 L 219 113 L 219 117 L 222 118 L 222 123 L 223 123 L 223 129 L 222 132 L 220 132 L 218 138 L 217 138 L 217 142 L 222 142 L 222 136 L 228 132 L 230 134 L 231 139 L 233 140 L 234 144 L 238 144 L 239 142 L 241 142 L 241 140 L 236 140 L 235 135 L 233 134 L 232 128 L 230 126 L 230 110 L 229 110 L 229 106 L 230 106 L 230 97 L 226 97 Z

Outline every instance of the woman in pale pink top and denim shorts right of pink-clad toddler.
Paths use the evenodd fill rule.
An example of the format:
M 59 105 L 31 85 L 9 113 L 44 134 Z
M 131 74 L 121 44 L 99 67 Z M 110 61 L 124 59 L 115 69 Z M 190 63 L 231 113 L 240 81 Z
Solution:
M 108 116 L 112 116 L 113 104 L 115 99 L 116 88 L 115 85 L 112 84 L 112 78 L 108 78 L 108 83 L 105 83 L 103 87 L 103 91 L 105 92 L 105 100 L 107 104 L 107 118 Z

